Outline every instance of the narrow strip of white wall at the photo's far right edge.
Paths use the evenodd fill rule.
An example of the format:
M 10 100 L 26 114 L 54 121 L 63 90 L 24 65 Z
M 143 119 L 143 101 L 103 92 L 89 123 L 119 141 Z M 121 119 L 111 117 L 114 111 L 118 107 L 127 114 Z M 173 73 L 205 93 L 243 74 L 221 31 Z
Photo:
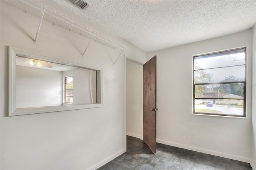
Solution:
M 256 25 L 253 28 L 253 40 L 252 40 L 252 156 L 251 166 L 253 170 L 256 170 Z

